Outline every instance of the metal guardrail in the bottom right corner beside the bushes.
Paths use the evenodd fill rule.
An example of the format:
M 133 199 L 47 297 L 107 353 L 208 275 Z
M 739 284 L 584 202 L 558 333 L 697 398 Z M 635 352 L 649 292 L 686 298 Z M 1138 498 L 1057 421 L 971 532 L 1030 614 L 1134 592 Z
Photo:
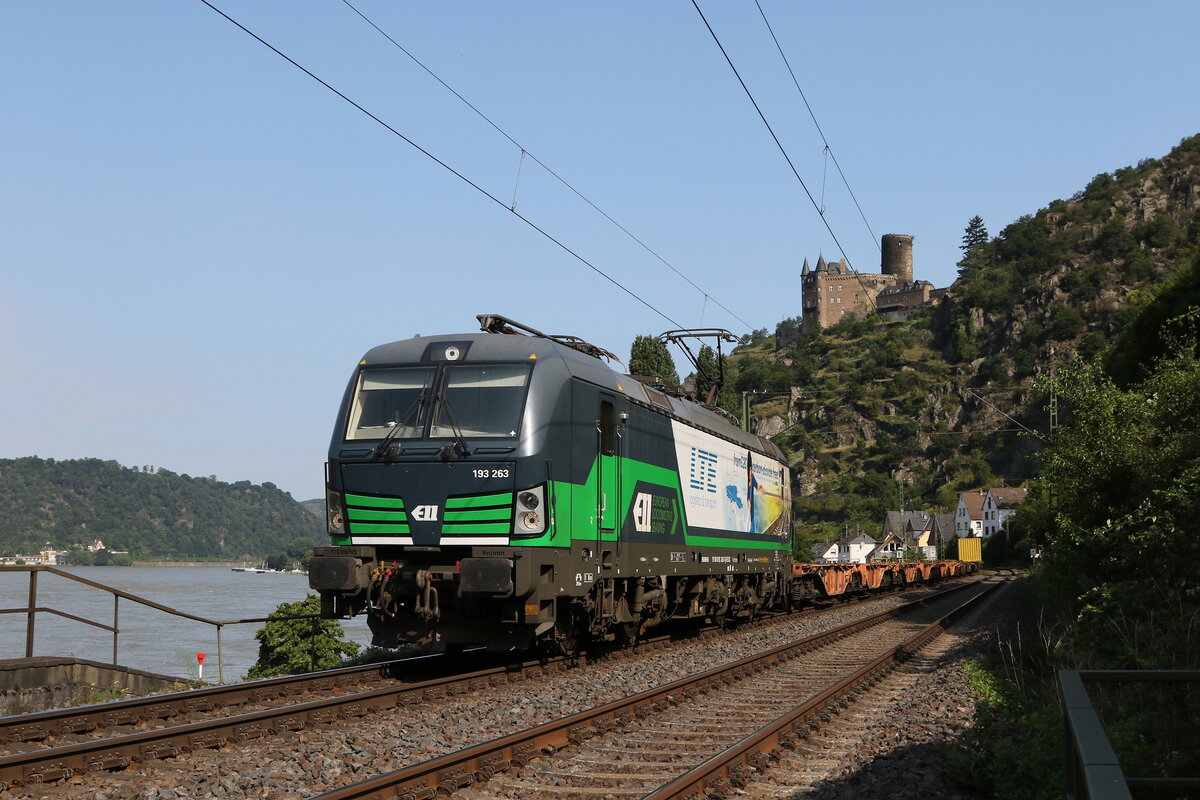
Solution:
M 1086 684 L 1193 684 L 1200 669 L 1060 669 L 1068 800 L 1132 800 L 1130 789 L 1200 792 L 1200 777 L 1127 777 Z

